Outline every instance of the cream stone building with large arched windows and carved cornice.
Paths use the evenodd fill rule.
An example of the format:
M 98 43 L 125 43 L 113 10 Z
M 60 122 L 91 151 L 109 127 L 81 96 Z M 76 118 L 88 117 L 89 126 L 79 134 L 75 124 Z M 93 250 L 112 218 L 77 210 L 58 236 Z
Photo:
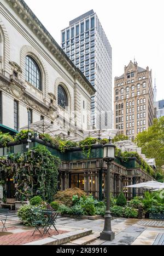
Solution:
M 0 2 L 0 121 L 19 130 L 45 119 L 89 129 L 96 90 L 22 0 Z

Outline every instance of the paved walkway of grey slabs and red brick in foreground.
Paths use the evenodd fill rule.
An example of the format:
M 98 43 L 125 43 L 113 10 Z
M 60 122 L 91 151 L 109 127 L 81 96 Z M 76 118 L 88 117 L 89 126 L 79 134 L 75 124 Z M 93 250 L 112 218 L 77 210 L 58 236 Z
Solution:
M 114 219 L 112 220 L 112 230 L 115 232 L 115 240 L 112 242 L 99 240 L 98 238 L 99 233 L 104 227 L 104 219 L 82 220 L 58 217 L 56 227 L 58 230 L 60 230 L 60 234 L 81 229 L 92 229 L 92 235 L 70 241 L 69 244 L 66 243 L 67 245 L 164 245 L 163 224 L 164 221 L 159 220 L 138 220 L 125 218 Z M 31 235 L 33 228 L 31 229 L 29 227 L 22 226 L 19 223 L 19 219 L 17 218 L 16 214 L 11 214 L 9 216 L 7 227 L 8 234 L 6 234 L 7 232 L 3 232 L 3 234 L 0 232 L 0 244 L 25 244 L 42 239 L 39 234 L 32 238 Z M 53 232 L 55 232 L 55 230 Z M 44 238 L 45 237 L 46 236 L 44 235 Z

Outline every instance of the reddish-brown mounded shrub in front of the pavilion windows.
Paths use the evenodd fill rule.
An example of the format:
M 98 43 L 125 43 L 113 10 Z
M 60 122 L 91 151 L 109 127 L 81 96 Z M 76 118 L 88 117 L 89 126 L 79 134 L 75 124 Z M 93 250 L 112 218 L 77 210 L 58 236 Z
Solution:
M 75 187 L 74 189 L 66 189 L 65 191 L 58 191 L 57 194 L 54 196 L 54 200 L 70 207 L 73 205 L 72 198 L 75 195 L 77 195 L 78 198 L 80 198 L 82 196 L 86 196 L 86 193 L 83 190 L 80 190 L 77 187 Z

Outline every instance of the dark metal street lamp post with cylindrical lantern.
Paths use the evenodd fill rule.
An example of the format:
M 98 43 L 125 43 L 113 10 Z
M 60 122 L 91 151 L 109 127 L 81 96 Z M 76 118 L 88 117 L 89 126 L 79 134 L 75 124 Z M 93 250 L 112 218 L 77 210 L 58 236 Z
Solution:
M 112 161 L 115 159 L 115 145 L 106 144 L 103 146 L 103 160 L 107 163 L 107 177 L 106 177 L 106 197 L 107 197 L 107 209 L 104 216 L 104 230 L 100 233 L 101 240 L 112 241 L 115 238 L 115 234 L 111 227 L 111 213 L 110 213 L 110 169 Z

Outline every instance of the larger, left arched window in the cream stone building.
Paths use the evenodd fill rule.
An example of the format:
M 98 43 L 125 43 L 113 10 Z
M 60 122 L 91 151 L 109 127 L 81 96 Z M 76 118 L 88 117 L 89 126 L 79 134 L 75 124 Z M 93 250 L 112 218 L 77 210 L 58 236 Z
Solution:
M 31 56 L 26 56 L 26 80 L 42 90 L 42 75 L 37 62 Z

